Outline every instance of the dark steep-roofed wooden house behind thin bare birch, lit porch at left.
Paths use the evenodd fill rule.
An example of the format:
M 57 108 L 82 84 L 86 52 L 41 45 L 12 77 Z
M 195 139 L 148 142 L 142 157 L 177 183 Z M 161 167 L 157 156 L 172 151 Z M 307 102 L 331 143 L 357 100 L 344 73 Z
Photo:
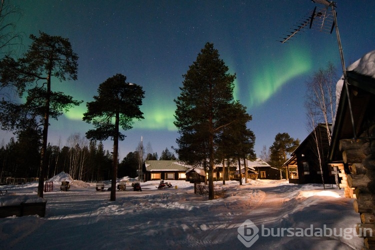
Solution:
M 324 184 L 334 184 L 333 168 L 328 165 L 328 150 L 326 126 L 325 124 L 318 124 L 282 165 L 289 183 L 322 183 L 323 176 Z

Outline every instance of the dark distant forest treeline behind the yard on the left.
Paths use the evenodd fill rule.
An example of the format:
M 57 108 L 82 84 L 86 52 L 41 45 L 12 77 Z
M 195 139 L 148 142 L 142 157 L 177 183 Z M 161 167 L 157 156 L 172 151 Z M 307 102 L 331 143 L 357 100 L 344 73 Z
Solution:
M 139 148 L 129 152 L 118 164 L 117 176 L 135 178 L 140 162 L 143 160 L 175 160 L 167 148 L 161 156 L 157 153 L 144 153 L 143 160 L 139 160 Z M 101 141 L 87 140 L 79 134 L 68 137 L 65 146 L 51 145 L 48 143 L 46 157 L 48 168 L 45 179 L 65 172 L 75 180 L 96 182 L 109 180 L 113 162 L 112 153 L 105 150 Z M 0 145 L 0 183 L 5 183 L 7 177 L 36 178 L 39 176 L 40 142 L 32 139 L 30 134 L 13 137 L 5 144 Z

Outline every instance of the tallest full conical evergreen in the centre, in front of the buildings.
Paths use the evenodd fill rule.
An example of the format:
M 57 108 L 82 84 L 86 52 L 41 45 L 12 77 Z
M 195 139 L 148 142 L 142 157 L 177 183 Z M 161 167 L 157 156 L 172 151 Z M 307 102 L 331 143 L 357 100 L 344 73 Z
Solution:
M 233 101 L 235 75 L 219 58 L 213 44 L 206 43 L 196 61 L 183 75 L 181 94 L 174 102 L 174 125 L 179 138 L 178 158 L 190 165 L 208 167 L 208 198 L 213 199 L 215 142 L 226 124 L 227 109 Z

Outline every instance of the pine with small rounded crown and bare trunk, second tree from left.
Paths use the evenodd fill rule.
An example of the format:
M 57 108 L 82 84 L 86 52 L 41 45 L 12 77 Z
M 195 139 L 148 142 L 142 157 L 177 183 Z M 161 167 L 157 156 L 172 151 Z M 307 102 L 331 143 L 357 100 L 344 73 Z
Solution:
M 118 162 L 118 140 L 125 136 L 119 132 L 132 128 L 133 119 L 143 119 L 139 106 L 142 105 L 144 91 L 141 86 L 127 83 L 126 77 L 116 74 L 99 85 L 94 101 L 87 103 L 83 121 L 92 123 L 95 129 L 88 130 L 86 137 L 94 140 L 113 140 L 113 167 L 110 200 L 116 200 L 116 176 Z

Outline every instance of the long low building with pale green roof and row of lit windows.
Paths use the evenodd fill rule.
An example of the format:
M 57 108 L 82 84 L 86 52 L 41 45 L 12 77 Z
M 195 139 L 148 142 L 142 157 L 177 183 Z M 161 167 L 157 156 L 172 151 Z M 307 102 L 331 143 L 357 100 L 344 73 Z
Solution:
M 143 180 L 185 180 L 189 168 L 176 160 L 144 161 Z

